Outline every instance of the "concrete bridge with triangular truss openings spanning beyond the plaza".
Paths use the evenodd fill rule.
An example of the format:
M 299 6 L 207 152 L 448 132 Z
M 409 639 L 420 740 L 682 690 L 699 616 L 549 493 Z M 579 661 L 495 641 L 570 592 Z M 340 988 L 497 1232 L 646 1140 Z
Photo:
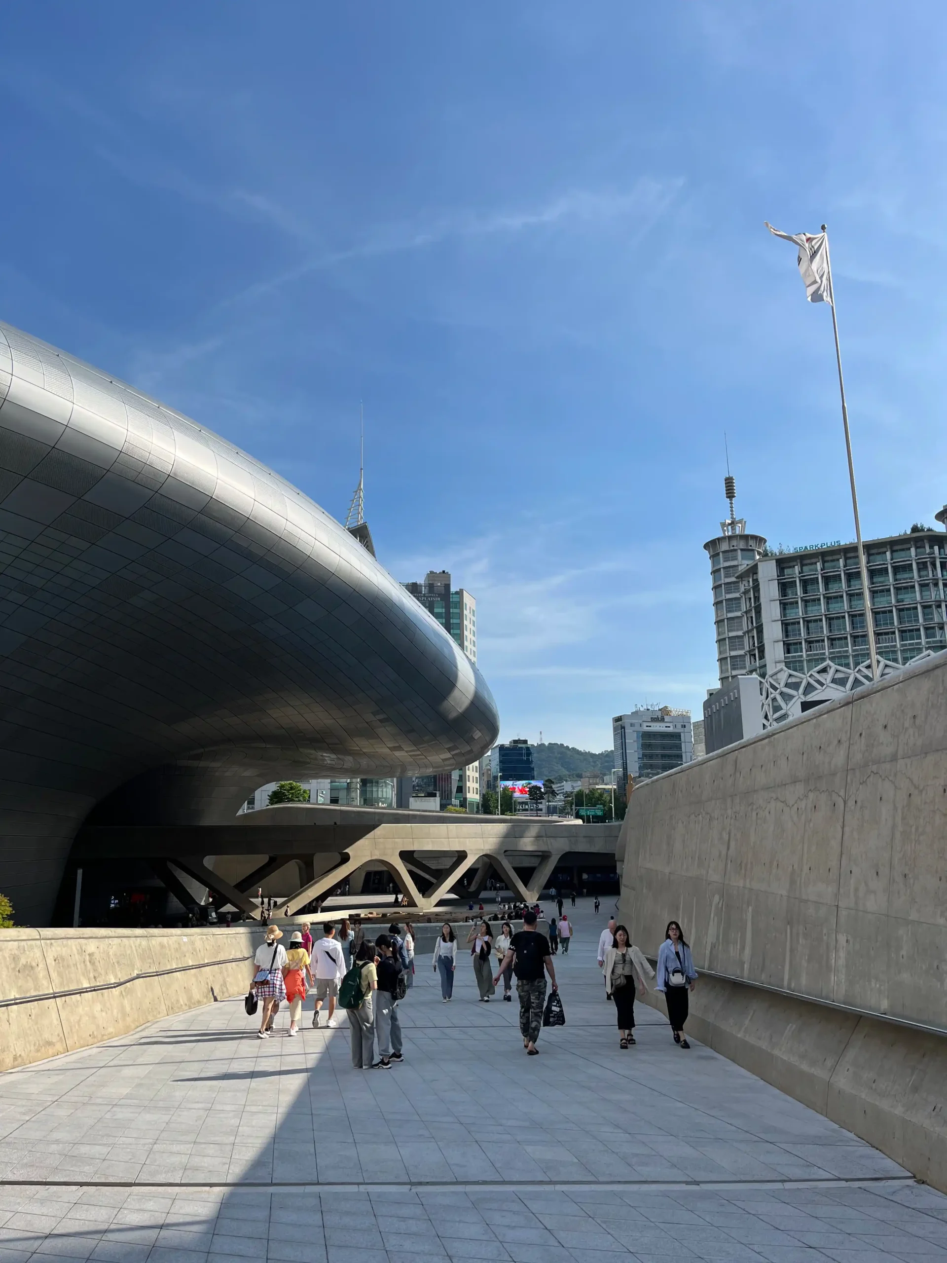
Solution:
M 432 818 L 433 816 L 433 818 Z M 179 874 L 212 890 L 221 906 L 258 914 L 254 893 L 282 871 L 275 916 L 292 916 L 366 865 L 386 869 L 412 908 L 429 912 L 475 869 L 465 894 L 494 877 L 534 902 L 567 855 L 615 860 L 620 825 L 515 820 L 432 812 L 370 811 L 287 803 L 217 826 L 87 826 L 73 863 L 145 860 L 182 903 L 193 898 Z M 177 883 L 177 888 L 176 884 Z

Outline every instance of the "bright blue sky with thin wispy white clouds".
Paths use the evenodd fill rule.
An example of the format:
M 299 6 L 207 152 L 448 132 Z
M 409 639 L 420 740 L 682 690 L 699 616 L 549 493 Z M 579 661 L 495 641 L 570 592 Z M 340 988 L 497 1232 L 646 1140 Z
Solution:
M 716 682 L 705 539 L 947 500 L 947 9 L 4 6 L 0 314 L 477 597 L 503 735 Z

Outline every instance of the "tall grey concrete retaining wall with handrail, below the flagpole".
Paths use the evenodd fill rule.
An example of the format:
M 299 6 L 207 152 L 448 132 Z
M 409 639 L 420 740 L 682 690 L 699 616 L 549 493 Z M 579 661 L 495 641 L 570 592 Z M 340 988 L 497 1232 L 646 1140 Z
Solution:
M 947 654 L 639 786 L 621 841 L 635 941 L 734 979 L 696 1037 L 947 1191 L 947 1037 L 846 1012 L 947 1029 Z

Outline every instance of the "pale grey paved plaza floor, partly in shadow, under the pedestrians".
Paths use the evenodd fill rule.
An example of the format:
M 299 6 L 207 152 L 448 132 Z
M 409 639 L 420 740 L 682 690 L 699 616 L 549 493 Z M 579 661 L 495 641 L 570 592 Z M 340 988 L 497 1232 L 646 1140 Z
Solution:
M 870 1146 L 653 1009 L 619 1050 L 605 914 L 539 1057 L 458 956 L 451 1004 L 418 960 L 388 1071 L 347 1022 L 260 1041 L 226 1000 L 0 1076 L 0 1263 L 947 1259 L 947 1197 Z

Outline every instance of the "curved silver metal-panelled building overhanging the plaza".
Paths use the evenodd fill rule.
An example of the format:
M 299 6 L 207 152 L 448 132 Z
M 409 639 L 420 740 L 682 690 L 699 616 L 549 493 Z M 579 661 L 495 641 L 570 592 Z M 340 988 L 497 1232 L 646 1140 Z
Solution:
M 83 821 L 221 823 L 278 774 L 461 767 L 480 673 L 317 504 L 0 325 L 0 892 L 53 917 Z

